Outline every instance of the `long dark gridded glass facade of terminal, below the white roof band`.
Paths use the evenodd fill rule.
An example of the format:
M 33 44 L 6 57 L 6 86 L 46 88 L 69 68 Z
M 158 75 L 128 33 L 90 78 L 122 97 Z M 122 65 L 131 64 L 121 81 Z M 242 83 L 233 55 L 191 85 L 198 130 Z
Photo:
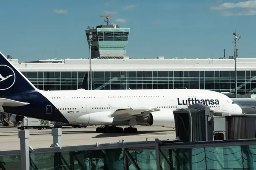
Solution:
M 76 90 L 88 72 L 22 72 L 41 90 Z M 207 89 L 233 92 L 234 71 L 102 71 L 92 73 L 93 89 Z M 89 78 L 88 81 L 90 82 Z M 89 85 L 88 85 L 89 87 Z M 88 89 L 88 88 L 87 88 Z M 256 89 L 256 71 L 237 71 L 238 94 Z

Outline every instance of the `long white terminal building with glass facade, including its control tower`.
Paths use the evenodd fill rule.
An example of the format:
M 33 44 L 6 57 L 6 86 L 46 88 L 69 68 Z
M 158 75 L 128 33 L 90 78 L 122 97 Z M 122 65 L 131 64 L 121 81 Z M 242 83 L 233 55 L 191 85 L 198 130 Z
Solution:
M 110 25 L 108 17 L 106 23 L 86 30 L 88 44 L 89 40 L 92 42 L 93 89 L 190 88 L 234 92 L 234 59 L 132 59 L 126 56 L 130 29 Z M 41 90 L 76 90 L 85 74 L 90 82 L 89 59 L 11 61 Z M 255 64 L 256 58 L 237 58 L 238 94 L 256 91 Z

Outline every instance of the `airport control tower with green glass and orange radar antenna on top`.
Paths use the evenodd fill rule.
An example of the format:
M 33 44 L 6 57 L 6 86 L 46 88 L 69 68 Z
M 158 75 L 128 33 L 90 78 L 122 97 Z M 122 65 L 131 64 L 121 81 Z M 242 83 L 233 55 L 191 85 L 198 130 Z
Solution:
M 105 25 L 96 26 L 85 31 L 88 44 L 89 33 L 91 32 L 91 57 L 92 59 L 123 59 L 126 54 L 126 47 L 130 28 L 120 28 L 115 23 L 110 23 L 110 17 L 106 17 Z

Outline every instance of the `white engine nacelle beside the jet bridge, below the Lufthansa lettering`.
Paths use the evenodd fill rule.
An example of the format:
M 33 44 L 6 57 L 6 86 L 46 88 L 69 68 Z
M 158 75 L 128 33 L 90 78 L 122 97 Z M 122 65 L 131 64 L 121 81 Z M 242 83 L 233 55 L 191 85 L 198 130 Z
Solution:
M 151 112 L 145 119 L 152 126 L 175 128 L 173 112 L 170 110 Z

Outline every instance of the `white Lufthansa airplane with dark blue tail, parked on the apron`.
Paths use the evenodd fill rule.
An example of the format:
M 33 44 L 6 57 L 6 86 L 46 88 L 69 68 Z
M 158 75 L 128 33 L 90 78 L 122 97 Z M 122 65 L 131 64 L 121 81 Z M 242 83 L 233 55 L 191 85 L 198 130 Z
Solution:
M 68 124 L 102 125 L 97 132 L 137 132 L 135 125 L 174 128 L 173 110 L 209 105 L 216 113 L 241 114 L 224 94 L 199 89 L 42 91 L 0 52 L 0 112 Z M 10 76 L 12 75 L 12 76 Z M 124 130 L 120 125 L 127 125 Z

